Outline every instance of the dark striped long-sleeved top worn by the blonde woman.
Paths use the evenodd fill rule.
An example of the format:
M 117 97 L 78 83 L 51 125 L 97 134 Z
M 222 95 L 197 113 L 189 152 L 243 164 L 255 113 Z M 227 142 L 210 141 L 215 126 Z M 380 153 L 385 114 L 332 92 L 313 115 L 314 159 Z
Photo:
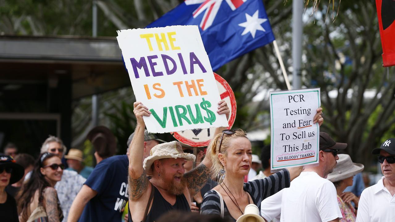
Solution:
M 263 199 L 275 194 L 283 188 L 290 186 L 290 173 L 287 169 L 283 169 L 264 179 L 257 179 L 244 183 L 243 189 L 250 194 L 254 204 L 258 206 L 259 214 L 261 214 L 261 202 Z M 209 190 L 203 198 L 201 204 L 201 214 L 221 214 L 220 198 L 218 194 Z M 236 221 L 231 216 L 224 202 L 224 219 L 227 221 Z

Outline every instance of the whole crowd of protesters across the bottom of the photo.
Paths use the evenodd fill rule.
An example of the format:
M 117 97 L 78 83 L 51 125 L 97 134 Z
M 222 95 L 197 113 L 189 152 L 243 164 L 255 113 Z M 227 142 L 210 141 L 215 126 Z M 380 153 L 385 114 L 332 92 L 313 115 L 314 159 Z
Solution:
M 217 112 L 229 118 L 226 102 Z M 151 113 L 141 102 L 134 103 L 134 114 L 125 155 L 114 156 L 117 142 L 108 128 L 89 132 L 94 168 L 85 166 L 81 150 L 67 152 L 55 136 L 43 142 L 38 158 L 6 145 L 0 154 L 1 221 L 239 222 L 251 214 L 247 209 L 267 222 L 395 221 L 395 139 L 372 149 L 383 177 L 365 188 L 364 166 L 352 162 L 346 143 L 325 132 L 319 134 L 318 165 L 274 173 L 270 147 L 262 147 L 260 158 L 252 154 L 244 130 L 217 128 L 209 146 L 194 152 L 147 132 L 143 116 Z M 313 122 L 323 121 L 319 108 Z

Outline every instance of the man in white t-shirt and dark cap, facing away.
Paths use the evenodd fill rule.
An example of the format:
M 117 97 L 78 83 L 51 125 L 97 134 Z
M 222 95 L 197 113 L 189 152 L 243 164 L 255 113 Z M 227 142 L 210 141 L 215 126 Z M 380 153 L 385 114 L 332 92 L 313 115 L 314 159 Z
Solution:
M 320 132 L 320 165 L 304 169 L 290 188 L 284 189 L 281 222 L 338 222 L 342 218 L 336 188 L 325 178 L 339 160 L 337 151 L 346 147 L 346 143 L 336 143 L 327 133 Z

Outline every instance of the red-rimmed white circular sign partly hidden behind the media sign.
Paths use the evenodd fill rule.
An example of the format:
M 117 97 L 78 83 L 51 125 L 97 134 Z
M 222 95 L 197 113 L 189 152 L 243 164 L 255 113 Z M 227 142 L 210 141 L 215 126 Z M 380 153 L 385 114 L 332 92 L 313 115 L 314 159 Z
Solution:
M 236 119 L 236 99 L 233 90 L 230 88 L 228 82 L 220 75 L 214 72 L 214 77 L 217 82 L 218 91 L 220 92 L 221 100 L 228 103 L 230 110 L 228 124 L 230 129 Z M 194 129 L 173 132 L 173 136 L 180 142 L 190 145 L 192 147 L 205 147 L 209 145 L 211 139 L 214 137 L 215 127 L 208 129 Z

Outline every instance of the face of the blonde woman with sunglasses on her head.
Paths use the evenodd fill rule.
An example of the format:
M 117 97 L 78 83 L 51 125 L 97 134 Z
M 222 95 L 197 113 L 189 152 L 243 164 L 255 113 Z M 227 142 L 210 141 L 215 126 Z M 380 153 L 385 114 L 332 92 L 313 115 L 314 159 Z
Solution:
M 226 173 L 245 176 L 251 168 L 252 149 L 250 141 L 245 137 L 235 137 L 229 141 L 230 146 L 222 161 Z

